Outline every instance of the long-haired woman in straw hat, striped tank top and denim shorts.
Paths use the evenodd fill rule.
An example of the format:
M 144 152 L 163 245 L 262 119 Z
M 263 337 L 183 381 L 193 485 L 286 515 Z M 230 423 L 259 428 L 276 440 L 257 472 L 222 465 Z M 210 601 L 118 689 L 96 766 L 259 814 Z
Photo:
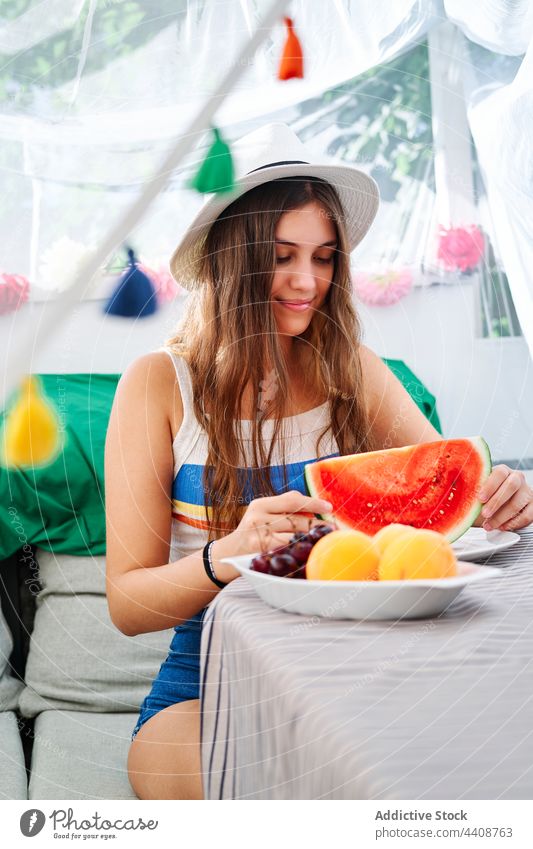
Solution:
M 359 341 L 349 252 L 374 182 L 311 164 L 285 125 L 235 152 L 237 197 L 209 200 L 172 259 L 197 294 L 167 346 L 122 376 L 106 444 L 111 617 L 129 635 L 175 628 L 132 735 L 145 799 L 202 798 L 201 623 L 238 577 L 221 558 L 285 543 L 328 509 L 305 494 L 306 462 L 440 439 Z M 533 519 L 521 475 L 498 467 L 485 490 L 495 527 Z

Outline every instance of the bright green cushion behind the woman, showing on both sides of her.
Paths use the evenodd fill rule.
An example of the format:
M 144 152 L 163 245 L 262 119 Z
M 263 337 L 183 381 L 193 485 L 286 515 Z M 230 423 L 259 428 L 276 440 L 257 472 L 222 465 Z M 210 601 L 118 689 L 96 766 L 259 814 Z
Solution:
M 433 395 L 401 360 L 384 362 L 440 432 Z M 60 415 L 64 445 L 42 468 L 0 466 L 0 558 L 25 542 L 56 554 L 105 554 L 104 446 L 120 375 L 38 376 Z M 0 413 L 0 427 L 2 420 Z

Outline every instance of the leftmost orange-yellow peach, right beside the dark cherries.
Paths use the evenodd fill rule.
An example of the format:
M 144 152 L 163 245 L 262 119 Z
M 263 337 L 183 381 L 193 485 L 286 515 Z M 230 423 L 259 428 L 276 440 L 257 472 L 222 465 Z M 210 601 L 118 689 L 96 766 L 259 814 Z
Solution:
M 375 581 L 379 551 L 361 531 L 332 531 L 311 549 L 305 567 L 311 581 Z

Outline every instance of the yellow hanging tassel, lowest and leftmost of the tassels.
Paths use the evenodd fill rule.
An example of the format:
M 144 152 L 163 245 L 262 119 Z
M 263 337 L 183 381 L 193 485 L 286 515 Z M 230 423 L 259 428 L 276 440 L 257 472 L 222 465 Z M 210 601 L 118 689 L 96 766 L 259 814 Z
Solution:
M 3 434 L 6 466 L 35 466 L 50 463 L 60 446 L 59 423 L 34 376 L 22 383 L 19 400 L 7 414 Z

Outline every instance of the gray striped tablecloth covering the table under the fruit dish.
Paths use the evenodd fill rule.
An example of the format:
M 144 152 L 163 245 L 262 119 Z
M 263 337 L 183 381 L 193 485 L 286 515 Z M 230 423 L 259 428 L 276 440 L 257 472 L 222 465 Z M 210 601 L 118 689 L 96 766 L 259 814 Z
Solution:
M 209 799 L 533 798 L 533 526 L 436 619 L 283 613 L 244 578 L 206 613 Z

